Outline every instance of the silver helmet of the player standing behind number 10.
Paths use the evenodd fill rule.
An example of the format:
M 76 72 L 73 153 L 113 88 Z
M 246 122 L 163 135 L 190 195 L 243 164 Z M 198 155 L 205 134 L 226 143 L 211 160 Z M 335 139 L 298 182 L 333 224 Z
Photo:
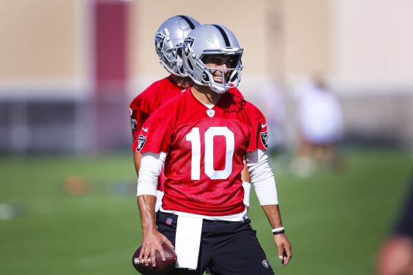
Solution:
M 182 68 L 182 44 L 187 34 L 201 25 L 197 20 L 185 15 L 166 19 L 155 34 L 155 49 L 159 63 L 168 72 L 179 77 L 188 77 Z

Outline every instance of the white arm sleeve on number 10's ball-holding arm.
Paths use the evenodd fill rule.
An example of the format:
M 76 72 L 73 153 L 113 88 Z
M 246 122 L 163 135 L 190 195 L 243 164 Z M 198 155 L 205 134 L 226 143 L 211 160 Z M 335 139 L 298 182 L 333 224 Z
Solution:
M 142 154 L 141 167 L 139 169 L 138 190 L 139 195 L 157 196 L 158 178 L 161 174 L 162 165 L 165 162 L 166 154 L 161 152 L 154 154 L 145 152 Z

